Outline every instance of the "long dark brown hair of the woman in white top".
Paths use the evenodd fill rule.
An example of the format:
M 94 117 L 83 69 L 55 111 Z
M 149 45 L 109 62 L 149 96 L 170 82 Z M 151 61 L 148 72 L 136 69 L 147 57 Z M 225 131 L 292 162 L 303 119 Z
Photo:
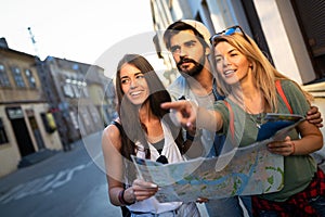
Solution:
M 176 143 L 179 146 L 179 150 L 181 150 L 183 143 L 181 130 L 172 123 L 169 115 L 166 115 L 169 111 L 160 107 L 162 102 L 171 101 L 168 91 L 165 89 L 153 66 L 145 58 L 139 54 L 126 54 L 119 61 L 116 73 L 117 112 L 125 131 L 125 135 L 121 137 L 121 154 L 130 159 L 130 155 L 135 154 L 135 142 L 140 141 L 145 148 L 146 158 L 150 158 L 150 150 L 145 137 L 146 129 L 139 118 L 139 105 L 132 104 L 128 98 L 125 97 L 121 89 L 121 81 L 119 79 L 120 69 L 125 64 L 131 64 L 144 74 L 144 78 L 150 89 L 150 95 L 143 105 L 148 103 L 150 112 L 153 115 L 160 119 L 164 117 L 164 120 L 170 127 L 171 132 L 174 133 L 173 138 L 177 138 Z

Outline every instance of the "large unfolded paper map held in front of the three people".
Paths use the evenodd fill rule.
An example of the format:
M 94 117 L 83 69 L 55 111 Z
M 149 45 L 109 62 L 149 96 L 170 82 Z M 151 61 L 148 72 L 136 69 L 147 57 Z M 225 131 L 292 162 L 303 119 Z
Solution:
M 272 115 L 274 118 L 274 114 Z M 211 200 L 276 192 L 284 184 L 284 158 L 270 153 L 266 144 L 274 140 L 283 140 L 286 132 L 302 119 L 301 116 L 289 126 L 277 128 L 272 138 L 245 148 L 236 148 L 219 157 L 199 157 L 164 165 L 135 156 L 132 158 L 139 176 L 158 184 L 159 191 L 155 196 L 159 202 L 192 202 L 198 197 Z

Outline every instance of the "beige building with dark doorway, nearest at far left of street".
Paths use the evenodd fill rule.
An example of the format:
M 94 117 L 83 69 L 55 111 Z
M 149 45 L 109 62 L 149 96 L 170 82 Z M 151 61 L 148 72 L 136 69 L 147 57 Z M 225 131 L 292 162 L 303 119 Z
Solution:
M 44 150 L 61 150 L 56 125 L 43 94 L 38 58 L 0 43 L 0 177 L 22 159 Z

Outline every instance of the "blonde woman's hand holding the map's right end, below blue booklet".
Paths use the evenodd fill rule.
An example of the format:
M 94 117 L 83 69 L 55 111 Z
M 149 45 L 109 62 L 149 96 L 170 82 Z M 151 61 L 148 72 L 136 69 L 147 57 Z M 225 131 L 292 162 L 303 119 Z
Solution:
M 288 156 L 295 154 L 295 143 L 291 141 L 290 137 L 286 137 L 284 141 L 275 141 L 268 144 L 270 152 L 274 154 L 280 154 L 283 156 Z

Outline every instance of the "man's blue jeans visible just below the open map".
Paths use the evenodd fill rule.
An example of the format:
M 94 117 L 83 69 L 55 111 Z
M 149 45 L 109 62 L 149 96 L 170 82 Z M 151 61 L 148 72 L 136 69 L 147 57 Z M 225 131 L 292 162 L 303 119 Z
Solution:
M 251 215 L 251 199 L 250 196 L 232 196 L 226 199 L 210 200 L 206 203 L 209 217 L 242 217 L 244 216 L 243 207 L 239 204 L 239 199 L 243 202 L 249 216 Z

